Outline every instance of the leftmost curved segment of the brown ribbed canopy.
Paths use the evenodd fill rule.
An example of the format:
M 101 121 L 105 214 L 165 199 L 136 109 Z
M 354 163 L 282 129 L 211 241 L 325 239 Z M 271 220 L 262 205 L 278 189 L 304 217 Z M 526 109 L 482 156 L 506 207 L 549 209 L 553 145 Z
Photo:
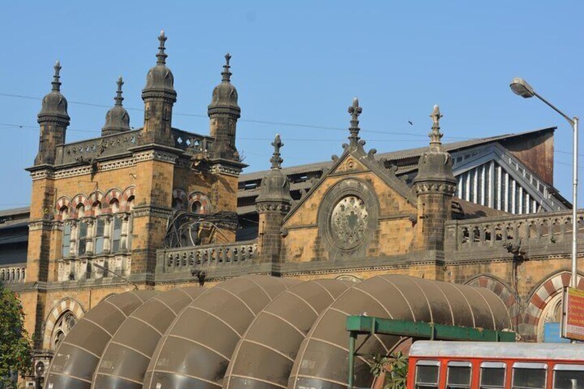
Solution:
M 157 294 L 156 291 L 120 293 L 88 311 L 56 349 L 45 388 L 89 389 L 107 342 L 136 308 Z

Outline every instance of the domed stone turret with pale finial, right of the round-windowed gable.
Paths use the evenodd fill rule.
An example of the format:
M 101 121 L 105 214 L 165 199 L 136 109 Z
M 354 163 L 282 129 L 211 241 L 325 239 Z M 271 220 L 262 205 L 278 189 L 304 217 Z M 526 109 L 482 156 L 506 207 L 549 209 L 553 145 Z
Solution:
M 418 174 L 414 179 L 417 194 L 418 228 L 421 229 L 421 249 L 444 250 L 445 222 L 452 217 L 452 195 L 457 180 L 452 175 L 452 158 L 442 148 L 440 109 L 438 105 L 430 115 L 432 131 L 430 148 L 421 155 Z

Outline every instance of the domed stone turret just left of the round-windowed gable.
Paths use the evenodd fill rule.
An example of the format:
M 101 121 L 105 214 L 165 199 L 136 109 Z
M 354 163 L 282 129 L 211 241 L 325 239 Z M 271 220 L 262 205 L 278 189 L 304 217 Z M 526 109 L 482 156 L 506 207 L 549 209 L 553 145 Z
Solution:
M 255 198 L 255 207 L 260 214 L 258 259 L 260 262 L 278 262 L 282 249 L 282 220 L 290 211 L 292 198 L 288 176 L 282 173 L 280 148 L 284 146 L 280 135 L 276 134 L 272 143 L 274 152 L 270 162 L 270 172 L 262 178 L 260 194 Z

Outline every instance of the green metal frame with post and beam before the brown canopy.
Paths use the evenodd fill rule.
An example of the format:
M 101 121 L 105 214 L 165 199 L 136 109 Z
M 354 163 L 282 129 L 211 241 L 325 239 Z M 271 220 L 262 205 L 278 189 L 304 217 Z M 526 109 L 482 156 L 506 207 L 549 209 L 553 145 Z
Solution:
M 359 348 L 372 335 L 397 335 L 430 340 L 458 341 L 515 341 L 512 331 L 488 330 L 476 327 L 448 326 L 425 322 L 410 322 L 407 320 L 383 319 L 364 315 L 348 316 L 346 330 L 348 340 L 348 389 L 353 389 L 355 379 L 355 357 Z M 357 345 L 357 336 L 366 335 L 361 346 Z

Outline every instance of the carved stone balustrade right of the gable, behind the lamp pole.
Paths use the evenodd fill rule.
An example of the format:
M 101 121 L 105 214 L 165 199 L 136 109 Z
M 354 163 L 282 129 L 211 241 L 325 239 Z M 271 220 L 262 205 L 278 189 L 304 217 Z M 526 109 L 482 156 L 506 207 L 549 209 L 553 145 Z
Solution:
M 504 215 L 446 224 L 446 249 L 474 251 L 507 243 L 521 246 L 572 242 L 572 211 Z M 584 234 L 584 211 L 578 211 L 578 234 Z M 578 238 L 581 240 L 581 238 Z

